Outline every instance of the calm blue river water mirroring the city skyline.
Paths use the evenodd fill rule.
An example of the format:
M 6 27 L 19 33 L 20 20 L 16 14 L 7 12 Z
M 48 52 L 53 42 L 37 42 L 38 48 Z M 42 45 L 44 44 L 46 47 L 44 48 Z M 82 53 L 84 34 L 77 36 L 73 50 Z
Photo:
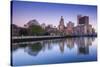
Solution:
M 12 43 L 13 66 L 97 60 L 97 38 L 80 37 Z

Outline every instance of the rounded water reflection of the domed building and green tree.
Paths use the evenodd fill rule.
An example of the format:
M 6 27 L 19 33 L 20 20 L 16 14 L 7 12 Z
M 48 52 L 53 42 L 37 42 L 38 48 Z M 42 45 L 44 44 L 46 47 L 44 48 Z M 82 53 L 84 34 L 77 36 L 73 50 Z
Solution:
M 27 52 L 31 56 L 37 56 L 38 53 L 41 51 L 41 49 L 42 49 L 41 43 L 34 43 L 34 44 L 30 44 L 25 49 L 25 52 Z

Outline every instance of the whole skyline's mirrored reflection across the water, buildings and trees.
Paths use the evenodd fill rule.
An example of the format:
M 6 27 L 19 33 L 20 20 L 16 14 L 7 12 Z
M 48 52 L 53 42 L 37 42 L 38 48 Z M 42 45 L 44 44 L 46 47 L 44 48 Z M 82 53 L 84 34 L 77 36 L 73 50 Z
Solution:
M 89 46 L 92 45 L 92 42 L 95 38 L 67 38 L 67 39 L 54 39 L 54 40 L 44 40 L 44 41 L 35 41 L 29 44 L 12 44 L 12 51 L 16 51 L 19 48 L 25 48 L 24 51 L 31 56 L 37 56 L 40 51 L 52 50 L 55 46 L 59 47 L 60 53 L 64 53 L 66 48 L 70 50 L 77 46 L 77 53 L 80 54 L 89 54 Z

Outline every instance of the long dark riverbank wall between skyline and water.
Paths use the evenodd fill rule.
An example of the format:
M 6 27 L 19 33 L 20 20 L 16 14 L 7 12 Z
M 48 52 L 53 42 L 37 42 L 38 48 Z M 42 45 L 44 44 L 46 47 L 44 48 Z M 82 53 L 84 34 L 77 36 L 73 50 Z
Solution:
M 11 38 L 11 43 L 39 41 L 59 38 L 76 38 L 76 37 L 97 37 L 97 35 L 71 35 L 71 36 L 14 36 Z

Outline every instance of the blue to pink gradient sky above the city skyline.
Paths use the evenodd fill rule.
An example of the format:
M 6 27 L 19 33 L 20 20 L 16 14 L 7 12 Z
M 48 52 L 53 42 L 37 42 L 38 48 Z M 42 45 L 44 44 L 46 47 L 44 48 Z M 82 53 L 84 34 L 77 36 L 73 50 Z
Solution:
M 72 21 L 76 26 L 77 15 L 81 14 L 89 16 L 89 23 L 97 29 L 97 7 L 94 5 L 13 1 L 11 8 L 12 23 L 21 27 L 33 19 L 40 24 L 58 26 L 61 16 L 65 25 Z

